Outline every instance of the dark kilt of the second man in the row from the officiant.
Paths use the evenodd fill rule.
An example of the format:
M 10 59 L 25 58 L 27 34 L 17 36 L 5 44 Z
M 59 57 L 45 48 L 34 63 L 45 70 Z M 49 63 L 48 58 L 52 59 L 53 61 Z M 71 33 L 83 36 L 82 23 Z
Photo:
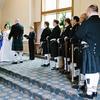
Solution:
M 50 41 L 51 57 L 58 57 L 58 43 L 57 41 Z

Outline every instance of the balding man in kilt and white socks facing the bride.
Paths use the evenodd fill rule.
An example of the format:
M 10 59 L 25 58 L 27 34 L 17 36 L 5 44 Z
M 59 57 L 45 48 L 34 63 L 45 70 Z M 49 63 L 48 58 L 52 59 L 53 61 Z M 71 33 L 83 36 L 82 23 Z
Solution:
M 20 20 L 16 19 L 15 24 L 11 27 L 11 32 L 9 34 L 8 39 L 13 38 L 12 41 L 12 50 L 14 51 L 14 62 L 13 64 L 23 63 L 22 55 L 23 55 L 23 33 L 24 28 L 20 24 Z

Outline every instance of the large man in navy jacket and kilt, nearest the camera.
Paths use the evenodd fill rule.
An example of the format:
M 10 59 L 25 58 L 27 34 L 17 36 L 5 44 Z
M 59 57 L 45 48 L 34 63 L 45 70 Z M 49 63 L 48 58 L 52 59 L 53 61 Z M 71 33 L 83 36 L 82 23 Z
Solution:
M 81 97 L 93 99 L 97 96 L 100 72 L 100 18 L 98 6 L 90 5 L 87 9 L 87 21 L 77 32 L 78 38 L 86 42 L 83 47 L 82 74 L 85 74 L 87 91 Z

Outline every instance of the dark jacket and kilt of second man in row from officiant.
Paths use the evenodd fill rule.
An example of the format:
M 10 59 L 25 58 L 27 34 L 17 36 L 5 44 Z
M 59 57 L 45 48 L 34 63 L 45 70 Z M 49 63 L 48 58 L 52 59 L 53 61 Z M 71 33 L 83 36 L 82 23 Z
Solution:
M 53 28 L 51 34 L 50 34 L 50 50 L 51 50 L 51 56 L 57 57 L 58 56 L 58 43 L 57 39 L 60 38 L 61 29 L 59 26 L 56 26 Z M 52 41 L 52 39 L 55 39 Z

